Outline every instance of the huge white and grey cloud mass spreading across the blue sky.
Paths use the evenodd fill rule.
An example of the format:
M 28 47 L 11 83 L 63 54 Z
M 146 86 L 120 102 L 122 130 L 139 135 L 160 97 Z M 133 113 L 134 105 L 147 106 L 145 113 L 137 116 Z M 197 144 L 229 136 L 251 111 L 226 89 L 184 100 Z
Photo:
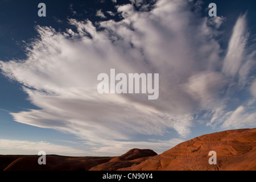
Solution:
M 243 42 L 245 31 L 237 29 L 245 26 L 246 17 L 238 20 L 225 58 L 215 39 L 223 17 L 214 26 L 212 20 L 199 18 L 192 6 L 187 1 L 159 0 L 138 11 L 129 4 L 117 6 L 123 17 L 119 22 L 69 19 L 72 27 L 63 32 L 36 27 L 40 39 L 27 47 L 26 60 L 0 62 L 3 74 L 24 85 L 32 104 L 40 107 L 11 113 L 15 121 L 75 134 L 94 143 L 94 151 L 103 144 L 125 148 L 129 141 L 140 142 L 138 135 L 151 138 L 175 130 L 187 137 L 193 122 L 206 119 L 200 114 L 203 110 L 208 125 L 225 122 L 230 111 L 225 89 L 236 84 L 225 73 L 234 76 L 243 64 L 238 56 L 233 68 L 230 54 L 237 49 L 237 54 L 244 53 L 245 47 L 233 45 L 233 39 Z M 112 68 L 125 74 L 159 73 L 159 98 L 99 94 L 97 76 Z M 236 112 L 229 114 L 224 126 L 236 122 Z

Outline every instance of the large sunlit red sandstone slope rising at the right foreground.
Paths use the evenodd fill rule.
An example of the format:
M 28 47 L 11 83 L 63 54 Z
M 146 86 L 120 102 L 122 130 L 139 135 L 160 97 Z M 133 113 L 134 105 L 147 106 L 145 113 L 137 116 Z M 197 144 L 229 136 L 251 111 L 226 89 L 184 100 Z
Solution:
M 216 165 L 208 163 L 212 150 Z M 256 170 L 256 129 L 202 135 L 121 170 Z

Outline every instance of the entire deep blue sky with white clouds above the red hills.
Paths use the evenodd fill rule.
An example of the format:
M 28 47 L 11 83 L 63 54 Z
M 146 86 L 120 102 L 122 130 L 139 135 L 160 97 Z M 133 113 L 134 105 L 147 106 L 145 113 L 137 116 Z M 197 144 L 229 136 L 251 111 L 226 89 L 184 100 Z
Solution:
M 0 154 L 161 154 L 256 127 L 255 10 L 254 0 L 0 1 Z M 98 93 L 110 69 L 158 73 L 159 97 Z

